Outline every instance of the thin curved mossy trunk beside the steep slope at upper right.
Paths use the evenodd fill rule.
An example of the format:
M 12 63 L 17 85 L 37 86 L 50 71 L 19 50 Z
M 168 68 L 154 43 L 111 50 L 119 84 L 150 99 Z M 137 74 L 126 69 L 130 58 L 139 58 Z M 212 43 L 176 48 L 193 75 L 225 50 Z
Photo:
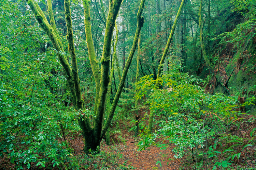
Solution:
M 200 28 L 200 42 L 201 42 L 201 48 L 202 48 L 202 53 L 203 53 L 203 58 L 204 58 L 204 61 L 207 65 L 207 67 L 209 68 L 210 72 L 213 72 L 213 66 L 212 64 L 210 63 L 207 55 L 206 55 L 206 51 L 205 51 L 205 45 L 204 45 L 204 41 L 203 41 L 203 26 L 202 26 L 202 17 L 201 17 L 201 11 L 202 11 L 202 3 L 203 3 L 203 0 L 200 1 L 200 7 L 199 7 L 199 12 L 198 12 L 198 19 L 199 19 L 199 28 Z

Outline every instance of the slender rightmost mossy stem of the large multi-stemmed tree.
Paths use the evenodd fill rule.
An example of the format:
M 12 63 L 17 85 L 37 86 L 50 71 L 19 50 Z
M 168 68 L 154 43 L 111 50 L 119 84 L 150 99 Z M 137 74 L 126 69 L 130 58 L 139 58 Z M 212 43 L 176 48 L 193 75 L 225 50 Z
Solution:
M 129 57 L 128 57 L 127 61 L 126 61 L 126 64 L 125 64 L 125 67 L 124 67 L 124 71 L 123 71 L 123 74 L 122 74 L 122 77 L 121 77 L 121 81 L 119 83 L 119 86 L 118 86 L 118 89 L 117 89 L 114 101 L 112 103 L 108 119 L 104 123 L 102 134 L 106 133 L 106 131 L 107 131 L 108 127 L 109 127 L 109 124 L 111 123 L 111 120 L 112 120 L 112 118 L 114 116 L 115 109 L 116 109 L 116 106 L 117 106 L 117 102 L 118 102 L 118 100 L 120 98 L 120 95 L 122 93 L 122 90 L 123 90 L 123 87 L 124 87 L 124 84 L 125 84 L 125 79 L 126 79 L 126 76 L 127 76 L 127 73 L 128 73 L 128 69 L 130 67 L 133 55 L 134 55 L 135 50 L 136 50 L 137 45 L 138 45 L 138 39 L 139 39 L 140 31 L 141 31 L 141 28 L 142 28 L 143 23 L 144 23 L 144 18 L 142 17 L 142 11 L 143 11 L 143 8 L 144 8 L 144 4 L 145 4 L 145 0 L 141 0 L 139 11 L 138 11 L 138 14 L 137 14 L 137 29 L 136 29 L 136 33 L 134 35 L 132 48 L 131 48 Z

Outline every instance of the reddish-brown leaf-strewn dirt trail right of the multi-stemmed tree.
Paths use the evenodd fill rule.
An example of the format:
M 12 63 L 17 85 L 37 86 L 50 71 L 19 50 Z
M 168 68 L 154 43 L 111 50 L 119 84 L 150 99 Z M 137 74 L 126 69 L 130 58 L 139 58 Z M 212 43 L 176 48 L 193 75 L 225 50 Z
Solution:
M 137 141 L 138 138 L 134 137 L 134 133 L 130 132 L 128 128 L 128 122 L 120 122 L 120 131 L 122 133 L 122 138 L 125 139 L 126 143 L 120 143 L 116 146 L 119 153 L 123 154 L 123 159 L 120 160 L 120 164 L 126 166 L 131 165 L 137 170 L 177 170 L 180 167 L 180 163 L 177 159 L 173 158 L 173 152 L 171 148 L 167 150 L 160 150 L 160 148 L 152 146 L 146 148 L 146 150 L 138 152 Z M 109 146 L 102 143 L 101 149 L 108 151 Z M 170 158 L 170 160 L 169 160 Z M 156 162 L 161 162 L 161 167 L 156 165 Z

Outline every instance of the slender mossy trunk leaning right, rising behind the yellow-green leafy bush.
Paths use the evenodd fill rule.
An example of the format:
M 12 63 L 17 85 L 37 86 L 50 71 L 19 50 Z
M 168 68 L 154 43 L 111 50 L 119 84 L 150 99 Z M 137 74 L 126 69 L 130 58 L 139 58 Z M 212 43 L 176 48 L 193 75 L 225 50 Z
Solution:
M 173 36 L 175 28 L 177 26 L 178 18 L 181 15 L 182 7 L 184 6 L 184 1 L 185 0 L 182 0 L 180 8 L 179 8 L 179 10 L 177 12 L 176 18 L 175 18 L 174 23 L 172 25 L 172 30 L 171 30 L 170 36 L 169 36 L 167 44 L 165 46 L 165 51 L 163 51 L 163 55 L 162 55 L 160 64 L 158 66 L 158 72 L 157 72 L 157 78 L 156 78 L 156 86 L 159 86 L 158 79 L 161 76 L 161 72 L 162 72 L 162 68 L 163 68 L 163 63 L 165 62 L 165 58 L 166 58 L 167 52 L 168 52 L 170 44 L 171 44 L 172 36 Z M 153 101 L 152 101 L 152 103 L 153 103 Z M 150 117 L 149 117 L 149 120 L 148 120 L 148 133 L 152 133 L 153 118 L 154 118 L 154 114 L 153 114 L 153 112 L 150 112 Z

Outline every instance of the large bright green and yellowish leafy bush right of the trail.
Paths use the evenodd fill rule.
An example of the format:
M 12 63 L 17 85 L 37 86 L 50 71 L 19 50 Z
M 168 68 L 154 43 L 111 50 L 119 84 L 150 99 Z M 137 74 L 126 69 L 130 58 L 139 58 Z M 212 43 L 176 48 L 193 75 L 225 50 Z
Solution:
M 235 108 L 251 105 L 256 98 L 248 99 L 244 104 L 237 104 L 237 98 L 234 96 L 206 94 L 203 88 L 198 86 L 201 80 L 176 70 L 158 79 L 163 86 L 162 89 L 155 86 L 157 80 L 150 78 L 150 75 L 141 78 L 138 82 L 139 90 L 135 98 L 141 98 L 144 89 L 152 89 L 146 104 L 150 105 L 151 114 L 157 117 L 155 122 L 159 126 L 153 134 L 148 134 L 147 130 L 144 130 L 140 135 L 143 140 L 138 146 L 140 149 L 152 144 L 157 144 L 161 149 L 171 147 L 175 158 L 182 158 L 185 151 L 191 149 L 194 161 L 196 161 L 194 157 L 201 157 L 200 159 L 213 157 L 220 152 L 209 148 L 209 143 L 226 131 L 233 122 L 241 119 L 244 113 L 235 111 Z M 164 139 L 155 143 L 159 135 L 164 136 Z M 208 155 L 203 152 L 205 149 L 209 151 Z M 227 157 L 229 158 L 230 155 Z M 227 161 L 216 165 L 227 167 L 229 165 Z

